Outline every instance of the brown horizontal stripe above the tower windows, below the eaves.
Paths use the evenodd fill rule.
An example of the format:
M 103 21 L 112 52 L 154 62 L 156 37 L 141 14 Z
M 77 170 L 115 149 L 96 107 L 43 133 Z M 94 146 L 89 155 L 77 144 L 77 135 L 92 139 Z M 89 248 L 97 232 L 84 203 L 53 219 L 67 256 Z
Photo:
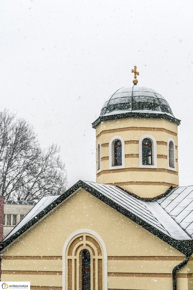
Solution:
M 171 135 L 177 136 L 177 133 L 172 132 L 170 130 L 167 130 L 165 128 L 148 128 L 148 127 L 125 127 L 125 128 L 117 128 L 117 129 L 111 129 L 111 130 L 104 130 L 101 131 L 100 134 L 96 136 L 96 138 L 99 138 L 103 134 L 108 133 L 114 133 L 114 132 L 123 132 L 123 131 L 152 131 L 152 132 L 166 132 Z

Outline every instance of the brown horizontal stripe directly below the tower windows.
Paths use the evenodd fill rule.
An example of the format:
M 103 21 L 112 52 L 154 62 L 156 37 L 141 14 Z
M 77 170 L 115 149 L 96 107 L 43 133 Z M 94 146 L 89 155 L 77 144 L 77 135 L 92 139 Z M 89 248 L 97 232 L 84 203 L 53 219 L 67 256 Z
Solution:
M 120 169 L 108 169 L 108 170 L 102 170 L 99 173 L 96 174 L 96 176 L 100 176 L 101 174 L 108 174 L 108 173 L 118 173 L 118 172 L 130 172 L 130 171 L 136 171 L 136 172 L 166 172 L 173 175 L 178 175 L 178 172 L 165 169 L 165 168 L 120 168 Z

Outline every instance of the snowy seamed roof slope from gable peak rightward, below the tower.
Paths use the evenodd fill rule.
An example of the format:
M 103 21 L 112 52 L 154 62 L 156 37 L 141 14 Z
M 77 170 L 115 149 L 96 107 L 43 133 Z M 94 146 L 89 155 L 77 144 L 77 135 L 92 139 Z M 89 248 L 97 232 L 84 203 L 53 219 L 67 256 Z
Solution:
M 190 236 L 184 228 L 181 227 L 175 219 L 170 216 L 167 211 L 164 210 L 158 201 L 143 201 L 129 195 L 126 191 L 118 188 L 115 185 L 107 185 L 96 182 L 86 182 L 88 185 L 95 188 L 98 192 L 106 195 L 111 200 L 115 201 L 117 204 L 121 205 L 128 211 L 134 213 L 139 218 L 146 221 L 148 224 L 152 225 L 156 229 L 162 231 L 164 234 L 178 240 L 191 240 L 193 235 Z M 192 187 L 193 190 L 193 187 Z M 179 188 L 180 191 L 180 188 Z M 170 195 L 169 195 L 170 196 Z M 193 195 L 192 195 L 192 205 L 191 210 L 193 211 Z M 193 216 L 191 217 L 193 222 Z

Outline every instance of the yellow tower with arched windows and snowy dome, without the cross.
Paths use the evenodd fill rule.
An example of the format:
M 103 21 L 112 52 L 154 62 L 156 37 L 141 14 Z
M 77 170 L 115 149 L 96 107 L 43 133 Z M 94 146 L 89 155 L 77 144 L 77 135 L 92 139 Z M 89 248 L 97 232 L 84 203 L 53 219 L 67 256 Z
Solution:
M 96 129 L 96 182 L 143 198 L 179 185 L 178 125 L 153 89 L 118 89 L 103 105 Z

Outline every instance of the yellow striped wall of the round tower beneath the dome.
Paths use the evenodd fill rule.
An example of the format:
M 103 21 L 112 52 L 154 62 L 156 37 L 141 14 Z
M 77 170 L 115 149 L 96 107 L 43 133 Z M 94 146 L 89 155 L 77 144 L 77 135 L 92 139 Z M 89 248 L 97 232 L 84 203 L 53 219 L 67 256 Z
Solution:
M 101 145 L 101 167 L 96 170 L 96 182 L 115 184 L 140 197 L 155 197 L 172 186 L 179 185 L 178 177 L 178 126 L 165 119 L 124 118 L 103 121 L 96 127 L 96 147 Z M 139 140 L 149 134 L 157 142 L 157 167 L 141 168 Z M 120 136 L 125 142 L 125 166 L 109 168 L 109 141 Z M 176 168 L 168 168 L 167 142 L 175 142 Z M 110 157 L 111 158 L 111 157 Z M 96 156 L 97 160 L 97 156 Z M 157 169 L 157 170 L 156 170 Z

